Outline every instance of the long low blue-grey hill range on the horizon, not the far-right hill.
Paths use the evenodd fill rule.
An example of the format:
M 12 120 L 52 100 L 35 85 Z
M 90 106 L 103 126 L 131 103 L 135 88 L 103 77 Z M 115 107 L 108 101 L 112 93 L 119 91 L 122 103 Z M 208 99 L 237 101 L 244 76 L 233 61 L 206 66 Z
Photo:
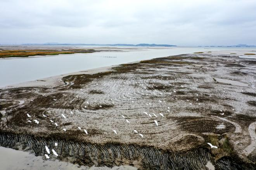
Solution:
M 83 46 L 149 46 L 149 47 L 173 47 L 169 44 L 60 44 L 58 42 L 48 42 L 45 44 L 22 44 L 22 45 L 83 45 Z

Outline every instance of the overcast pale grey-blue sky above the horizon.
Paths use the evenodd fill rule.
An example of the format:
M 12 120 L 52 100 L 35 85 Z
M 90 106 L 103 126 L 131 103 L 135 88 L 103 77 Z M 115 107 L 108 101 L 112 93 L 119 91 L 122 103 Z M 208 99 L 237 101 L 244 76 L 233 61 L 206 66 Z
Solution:
M 0 0 L 0 43 L 256 45 L 256 0 Z

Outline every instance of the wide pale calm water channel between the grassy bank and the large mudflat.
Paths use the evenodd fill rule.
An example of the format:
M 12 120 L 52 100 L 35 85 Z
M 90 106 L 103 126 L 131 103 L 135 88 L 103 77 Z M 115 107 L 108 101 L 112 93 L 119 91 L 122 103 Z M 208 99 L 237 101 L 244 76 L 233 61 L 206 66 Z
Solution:
M 125 50 L 124 52 L 112 51 L 36 58 L 0 59 L 0 87 L 74 71 L 206 50 L 209 49 L 204 47 L 141 48 L 138 51 Z

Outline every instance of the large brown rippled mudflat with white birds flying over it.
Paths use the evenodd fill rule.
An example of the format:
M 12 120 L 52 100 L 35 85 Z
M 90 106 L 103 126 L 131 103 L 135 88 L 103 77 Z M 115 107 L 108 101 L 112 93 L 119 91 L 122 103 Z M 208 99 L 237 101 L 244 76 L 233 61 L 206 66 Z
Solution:
M 184 54 L 112 69 L 1 90 L 0 145 L 90 166 L 255 169 L 256 60 Z

